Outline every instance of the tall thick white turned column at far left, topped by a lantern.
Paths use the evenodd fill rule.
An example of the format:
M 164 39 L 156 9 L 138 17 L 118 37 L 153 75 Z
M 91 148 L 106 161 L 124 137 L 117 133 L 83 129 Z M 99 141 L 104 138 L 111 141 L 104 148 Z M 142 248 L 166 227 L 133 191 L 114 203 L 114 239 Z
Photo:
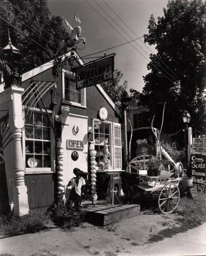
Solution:
M 17 216 L 28 214 L 28 195 L 27 187 L 24 178 L 24 164 L 21 147 L 21 136 L 23 128 L 21 93 L 24 89 L 17 86 L 8 88 L 11 93 L 11 103 L 9 107 L 9 120 L 11 120 L 11 129 L 13 129 L 13 145 L 14 145 L 14 187 L 13 187 L 13 202 L 14 214 Z

